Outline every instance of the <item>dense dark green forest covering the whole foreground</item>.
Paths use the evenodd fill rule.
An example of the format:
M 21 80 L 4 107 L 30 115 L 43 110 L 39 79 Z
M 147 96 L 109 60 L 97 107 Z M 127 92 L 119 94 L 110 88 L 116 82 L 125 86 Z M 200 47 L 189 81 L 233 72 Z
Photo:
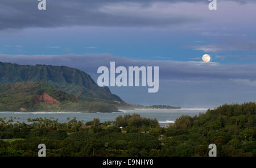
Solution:
M 217 145 L 218 157 L 255 157 L 255 102 L 224 104 L 197 116 L 181 116 L 168 127 L 138 114 L 115 121 L 84 122 L 76 118 L 0 119 L 0 156 L 38 156 L 46 144 L 47 157 L 163 156 L 207 157 Z

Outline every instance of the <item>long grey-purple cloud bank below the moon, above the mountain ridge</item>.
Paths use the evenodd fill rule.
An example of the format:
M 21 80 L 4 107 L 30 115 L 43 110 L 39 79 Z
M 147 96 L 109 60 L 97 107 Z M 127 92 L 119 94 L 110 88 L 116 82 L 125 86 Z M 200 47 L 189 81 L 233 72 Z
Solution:
M 159 77 L 162 79 L 256 79 L 254 64 L 216 64 L 201 61 L 171 61 L 171 60 L 135 60 L 127 57 L 113 56 L 112 54 L 65 54 L 65 55 L 8 55 L 0 54 L 0 61 L 16 64 L 46 64 L 66 65 L 97 75 L 97 68 L 110 66 L 115 61 L 116 66 L 159 66 Z

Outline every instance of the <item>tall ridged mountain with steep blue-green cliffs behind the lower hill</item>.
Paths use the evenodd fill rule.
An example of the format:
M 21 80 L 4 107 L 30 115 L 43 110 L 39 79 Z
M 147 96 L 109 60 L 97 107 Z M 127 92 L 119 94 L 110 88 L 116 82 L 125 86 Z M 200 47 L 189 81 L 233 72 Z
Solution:
M 99 87 L 90 75 L 78 69 L 67 66 L 30 66 L 0 62 L 0 85 L 22 81 L 44 81 L 83 100 L 123 102 L 117 95 L 112 94 L 108 87 Z

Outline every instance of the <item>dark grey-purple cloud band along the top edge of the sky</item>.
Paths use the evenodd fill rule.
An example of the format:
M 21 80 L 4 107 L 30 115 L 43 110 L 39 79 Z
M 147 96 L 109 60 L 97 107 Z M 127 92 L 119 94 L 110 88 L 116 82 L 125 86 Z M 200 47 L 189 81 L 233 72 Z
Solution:
M 102 7 L 104 9 L 106 5 L 123 5 L 129 8 L 129 4 L 136 3 L 141 9 L 145 9 L 156 2 L 209 3 L 206 0 L 55 0 L 47 1 L 46 11 L 39 11 L 37 9 L 38 1 L 36 0 L 2 0 L 0 2 L 0 30 L 61 26 L 170 27 L 201 20 L 201 18 L 196 18 L 193 15 L 177 14 L 172 16 L 160 15 L 158 17 L 156 12 L 152 17 L 151 15 L 142 16 L 133 12 L 120 15 L 102 11 Z

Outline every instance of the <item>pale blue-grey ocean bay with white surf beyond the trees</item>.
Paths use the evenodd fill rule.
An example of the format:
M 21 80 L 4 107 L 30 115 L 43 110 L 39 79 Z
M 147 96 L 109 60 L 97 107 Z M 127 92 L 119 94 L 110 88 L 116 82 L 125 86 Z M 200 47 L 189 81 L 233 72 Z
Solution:
M 164 126 L 169 123 L 174 123 L 174 121 L 179 118 L 181 115 L 195 116 L 199 112 L 204 113 L 207 111 L 206 108 L 181 108 L 175 110 L 162 110 L 162 109 L 139 109 L 139 110 L 121 110 L 122 112 L 112 112 L 112 113 L 82 113 L 82 112 L 0 112 L 0 118 L 6 117 L 6 121 L 10 117 L 16 117 L 14 121 L 27 122 L 27 119 L 35 119 L 37 117 L 54 117 L 58 119 L 60 123 L 68 122 L 67 118 L 73 119 L 76 117 L 76 120 L 92 121 L 94 118 L 100 119 L 103 123 L 104 121 L 114 121 L 115 118 L 119 115 L 126 114 L 140 114 L 142 117 L 147 117 L 151 119 L 157 119 L 159 124 Z

